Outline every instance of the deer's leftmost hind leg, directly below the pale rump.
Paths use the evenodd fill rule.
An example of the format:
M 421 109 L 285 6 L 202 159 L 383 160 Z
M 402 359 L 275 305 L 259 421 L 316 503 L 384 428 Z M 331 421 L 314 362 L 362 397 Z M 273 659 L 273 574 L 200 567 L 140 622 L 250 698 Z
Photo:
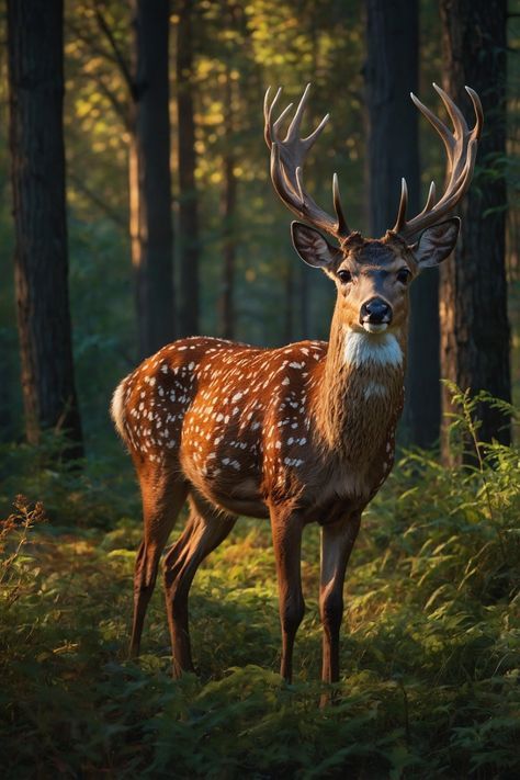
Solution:
M 139 654 L 146 610 L 154 592 L 159 558 L 188 496 L 188 486 L 166 477 L 143 478 L 143 541 L 134 570 L 134 619 L 129 654 Z

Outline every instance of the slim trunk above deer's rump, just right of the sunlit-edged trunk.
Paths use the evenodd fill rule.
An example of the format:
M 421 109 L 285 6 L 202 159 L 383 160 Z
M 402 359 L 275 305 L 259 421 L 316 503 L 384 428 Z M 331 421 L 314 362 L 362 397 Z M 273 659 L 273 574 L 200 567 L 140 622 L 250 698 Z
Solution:
M 180 330 L 199 331 L 199 208 L 195 186 L 193 111 L 193 0 L 181 0 L 177 35 L 177 110 L 179 132 Z

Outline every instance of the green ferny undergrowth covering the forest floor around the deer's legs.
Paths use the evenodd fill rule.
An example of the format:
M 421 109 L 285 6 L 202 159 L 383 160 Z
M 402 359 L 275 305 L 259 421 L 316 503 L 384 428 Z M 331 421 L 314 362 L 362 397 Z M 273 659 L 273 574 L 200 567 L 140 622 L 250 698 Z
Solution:
M 453 434 L 474 442 L 473 460 L 443 467 L 407 453 L 366 511 L 347 575 L 342 678 L 325 709 L 317 529 L 304 539 L 295 683 L 274 671 L 269 524 L 249 520 L 197 574 L 199 675 L 173 681 L 160 587 L 144 655 L 126 659 L 140 534 L 127 491 L 47 476 L 46 521 L 31 502 L 42 494 L 21 479 L 29 498 L 0 532 L 2 777 L 519 777 L 520 452 L 479 444 L 484 399 L 455 400 Z

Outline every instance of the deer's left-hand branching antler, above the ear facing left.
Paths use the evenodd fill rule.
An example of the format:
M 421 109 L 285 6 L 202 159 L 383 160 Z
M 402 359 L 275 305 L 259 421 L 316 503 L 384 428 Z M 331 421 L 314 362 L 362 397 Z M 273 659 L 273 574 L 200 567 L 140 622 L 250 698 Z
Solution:
M 280 88 L 276 91 L 271 104 L 269 102 L 271 88 L 265 92 L 263 103 L 263 114 L 265 118 L 264 135 L 265 143 L 271 149 L 271 179 L 283 203 L 285 203 L 296 216 L 341 240 L 350 235 L 350 230 L 341 207 L 337 174 L 335 173 L 332 177 L 332 199 L 336 219 L 324 212 L 304 190 L 302 169 L 305 157 L 315 140 L 321 134 L 329 118 L 327 114 L 310 135 L 306 138 L 299 138 L 299 127 L 307 104 L 309 89 L 310 84 L 307 84 L 283 140 L 279 137 L 278 133 L 280 125 L 291 111 L 293 104 L 290 103 L 287 108 L 282 111 L 278 120 L 273 121 L 273 109 L 282 90 Z

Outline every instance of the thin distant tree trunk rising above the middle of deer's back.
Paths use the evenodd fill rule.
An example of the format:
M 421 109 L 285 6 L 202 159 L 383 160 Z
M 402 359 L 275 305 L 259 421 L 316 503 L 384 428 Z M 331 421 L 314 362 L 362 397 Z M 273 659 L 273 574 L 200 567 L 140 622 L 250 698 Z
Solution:
M 235 238 L 235 213 L 237 207 L 237 178 L 235 176 L 233 92 L 229 72 L 226 72 L 224 101 L 224 192 L 222 218 L 224 225 L 223 275 L 221 295 L 221 332 L 225 339 L 235 336 L 235 262 L 237 244 Z

